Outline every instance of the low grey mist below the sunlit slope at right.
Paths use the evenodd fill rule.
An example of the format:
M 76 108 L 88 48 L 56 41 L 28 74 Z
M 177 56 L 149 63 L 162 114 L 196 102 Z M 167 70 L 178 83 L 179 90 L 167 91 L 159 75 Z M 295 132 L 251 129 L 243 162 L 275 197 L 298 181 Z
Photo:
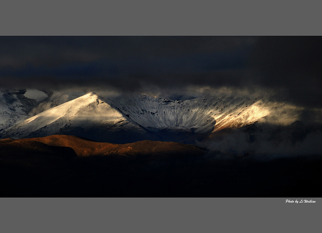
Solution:
M 301 135 L 300 138 L 294 138 L 297 132 L 285 133 L 284 135 L 282 132 L 274 136 L 272 135 L 274 133 L 268 132 L 249 134 L 239 130 L 236 131 L 207 142 L 196 142 L 196 144 L 226 153 L 256 154 L 256 157 L 266 159 L 293 155 L 322 154 L 321 130 Z M 274 154 L 276 156 L 273 156 Z

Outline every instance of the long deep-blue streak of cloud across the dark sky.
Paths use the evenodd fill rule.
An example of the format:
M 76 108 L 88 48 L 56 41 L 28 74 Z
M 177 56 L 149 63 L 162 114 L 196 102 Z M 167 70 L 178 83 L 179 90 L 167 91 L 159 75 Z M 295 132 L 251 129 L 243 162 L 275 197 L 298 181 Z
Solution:
M 116 77 L 126 75 L 159 75 L 165 73 L 198 73 L 214 70 L 239 69 L 244 66 L 246 49 L 181 56 L 149 56 L 100 59 L 89 62 L 68 62 L 56 66 L 27 65 L 20 69 L 2 68 L 0 76 L 33 77 Z

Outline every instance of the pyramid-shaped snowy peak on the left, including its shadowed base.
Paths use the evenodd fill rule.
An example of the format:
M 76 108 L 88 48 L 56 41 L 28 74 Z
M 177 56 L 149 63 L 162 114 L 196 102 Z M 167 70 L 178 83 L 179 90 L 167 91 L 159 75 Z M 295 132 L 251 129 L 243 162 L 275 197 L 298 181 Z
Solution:
M 146 133 L 94 93 L 88 93 L 18 121 L 4 130 L 2 138 L 72 134 L 100 140 L 106 136 L 107 140 L 112 140 L 130 132 L 138 138 Z

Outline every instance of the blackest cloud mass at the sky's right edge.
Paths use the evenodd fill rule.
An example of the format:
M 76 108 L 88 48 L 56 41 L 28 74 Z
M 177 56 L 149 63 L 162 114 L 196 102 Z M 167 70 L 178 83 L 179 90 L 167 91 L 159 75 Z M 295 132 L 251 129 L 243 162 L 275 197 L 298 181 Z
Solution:
M 282 89 L 297 104 L 322 107 L 322 37 L 260 37 L 249 67 L 249 83 Z

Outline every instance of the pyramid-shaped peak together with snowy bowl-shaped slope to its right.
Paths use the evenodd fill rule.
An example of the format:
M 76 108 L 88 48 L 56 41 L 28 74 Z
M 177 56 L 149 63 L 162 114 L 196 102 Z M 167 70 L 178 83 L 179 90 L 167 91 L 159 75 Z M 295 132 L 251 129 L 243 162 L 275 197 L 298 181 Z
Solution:
M 70 100 L 81 94 L 50 93 L 43 102 L 49 109 L 30 118 L 17 118 L 18 122 L 0 131 L 1 138 L 66 134 L 112 143 L 147 139 L 198 144 L 235 129 L 260 132 L 269 127 L 272 135 L 280 127 L 298 121 L 303 110 L 267 98 L 226 94 L 168 100 L 142 94 L 112 98 L 90 92 Z

